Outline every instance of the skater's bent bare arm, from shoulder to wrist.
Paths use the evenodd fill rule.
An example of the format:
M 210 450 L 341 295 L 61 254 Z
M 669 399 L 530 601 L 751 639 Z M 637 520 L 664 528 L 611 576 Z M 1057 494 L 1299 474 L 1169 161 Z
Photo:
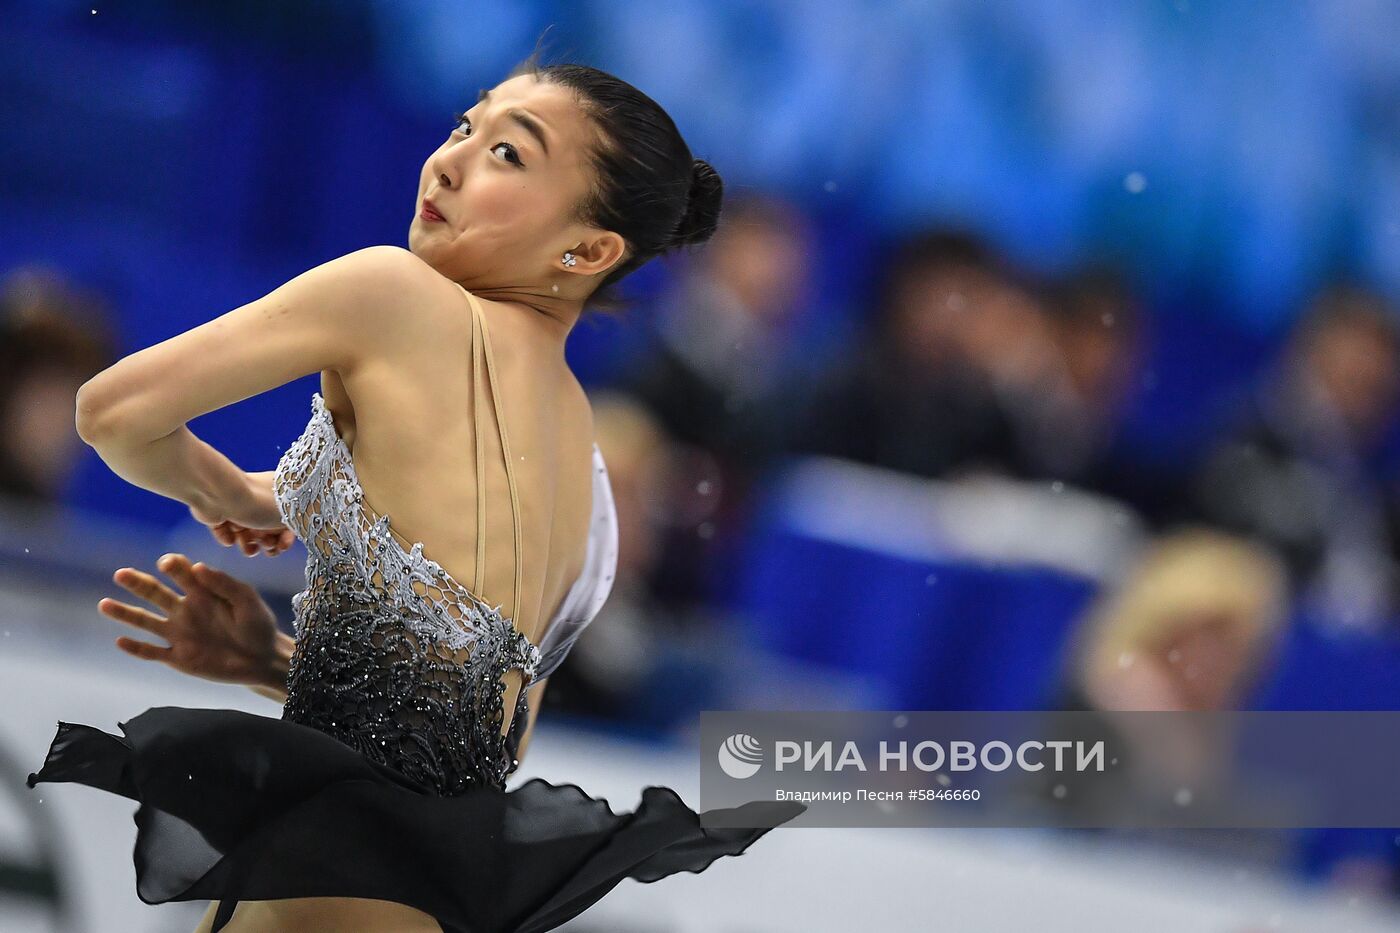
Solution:
M 412 310 L 445 282 L 398 247 L 370 247 L 319 265 L 84 382 L 78 434 L 113 472 L 143 489 L 210 514 L 227 504 L 267 513 L 248 475 L 186 423 L 311 373 L 350 373 L 405 340 L 424 339 Z M 276 523 L 276 516 L 249 517 Z

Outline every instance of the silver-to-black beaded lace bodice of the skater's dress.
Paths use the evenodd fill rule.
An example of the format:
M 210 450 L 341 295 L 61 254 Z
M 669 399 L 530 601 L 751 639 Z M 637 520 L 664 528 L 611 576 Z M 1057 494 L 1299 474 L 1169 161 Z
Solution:
M 398 542 L 389 517 L 365 502 L 319 392 L 273 489 L 283 521 L 307 546 L 307 586 L 291 601 L 297 646 L 283 719 L 329 733 L 441 794 L 504 787 L 519 763 L 528 686 L 563 661 L 610 590 L 616 513 L 596 444 L 588 559 L 546 626 L 543 649 L 427 558 L 421 542 Z M 517 668 L 526 686 L 503 738 L 501 678 Z

